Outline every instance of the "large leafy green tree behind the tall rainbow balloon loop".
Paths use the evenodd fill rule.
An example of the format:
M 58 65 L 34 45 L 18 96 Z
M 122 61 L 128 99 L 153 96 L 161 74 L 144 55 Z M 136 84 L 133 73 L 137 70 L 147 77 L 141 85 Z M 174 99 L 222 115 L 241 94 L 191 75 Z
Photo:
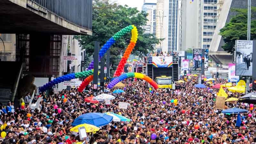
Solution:
M 81 36 L 80 44 L 86 50 L 87 66 L 89 58 L 94 52 L 94 41 L 100 41 L 100 46 L 122 28 L 135 25 L 138 29 L 138 40 L 132 54 L 141 55 L 154 50 L 154 45 L 158 44 L 157 39 L 152 34 L 144 34 L 143 25 L 147 22 L 147 13 L 139 12 L 136 8 L 130 8 L 127 5 L 117 5 L 108 3 L 108 0 L 94 0 L 92 11 L 92 36 Z M 79 39 L 79 36 L 76 36 Z M 110 72 L 114 73 L 121 57 L 130 42 L 131 34 L 116 41 L 110 48 Z M 92 58 L 92 57 L 91 57 Z

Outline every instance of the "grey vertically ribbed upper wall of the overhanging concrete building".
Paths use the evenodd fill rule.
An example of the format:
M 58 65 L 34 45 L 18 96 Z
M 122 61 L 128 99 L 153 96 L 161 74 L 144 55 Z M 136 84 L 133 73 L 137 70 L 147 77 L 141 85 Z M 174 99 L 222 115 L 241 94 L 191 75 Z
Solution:
M 92 29 L 92 0 L 31 0 L 78 26 Z

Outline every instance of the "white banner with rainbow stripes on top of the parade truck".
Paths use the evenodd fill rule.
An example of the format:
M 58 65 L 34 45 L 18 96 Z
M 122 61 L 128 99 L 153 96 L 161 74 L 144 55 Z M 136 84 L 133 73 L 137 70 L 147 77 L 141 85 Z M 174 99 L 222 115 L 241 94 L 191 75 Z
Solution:
M 169 68 L 172 67 L 172 56 L 158 56 L 152 57 L 152 64 L 156 68 Z

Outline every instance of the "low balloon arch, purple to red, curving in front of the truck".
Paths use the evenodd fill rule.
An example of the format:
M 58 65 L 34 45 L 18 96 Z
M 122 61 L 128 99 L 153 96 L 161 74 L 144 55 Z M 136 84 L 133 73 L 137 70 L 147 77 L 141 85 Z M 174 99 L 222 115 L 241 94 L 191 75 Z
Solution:
M 152 85 L 155 89 L 158 89 L 158 85 L 156 84 L 155 81 L 153 81 L 150 77 L 143 75 L 141 73 L 124 73 L 119 77 L 116 77 L 115 79 L 113 79 L 109 84 L 108 84 L 108 88 L 113 88 L 117 83 L 119 83 L 120 81 L 126 79 L 126 78 L 131 78 L 131 77 L 135 77 L 135 78 L 140 78 L 143 79 L 145 81 L 147 81 L 150 85 Z

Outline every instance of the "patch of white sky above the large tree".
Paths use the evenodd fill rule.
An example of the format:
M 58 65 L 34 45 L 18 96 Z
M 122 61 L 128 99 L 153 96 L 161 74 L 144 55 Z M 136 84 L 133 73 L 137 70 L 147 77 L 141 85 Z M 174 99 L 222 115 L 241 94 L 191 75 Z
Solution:
M 113 0 L 120 5 L 128 5 L 129 7 L 137 7 L 141 11 L 144 0 Z M 156 3 L 157 0 L 146 0 L 146 3 Z

